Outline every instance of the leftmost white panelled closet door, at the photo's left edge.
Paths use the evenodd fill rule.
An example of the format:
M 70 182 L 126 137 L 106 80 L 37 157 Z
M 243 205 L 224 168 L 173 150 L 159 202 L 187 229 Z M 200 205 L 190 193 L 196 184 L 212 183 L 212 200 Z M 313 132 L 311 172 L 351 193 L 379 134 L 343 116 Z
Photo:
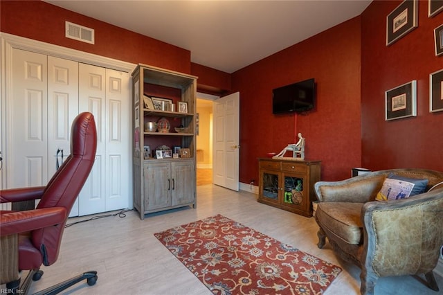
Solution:
M 7 100 L 6 187 L 48 182 L 47 57 L 12 50 L 11 98 Z

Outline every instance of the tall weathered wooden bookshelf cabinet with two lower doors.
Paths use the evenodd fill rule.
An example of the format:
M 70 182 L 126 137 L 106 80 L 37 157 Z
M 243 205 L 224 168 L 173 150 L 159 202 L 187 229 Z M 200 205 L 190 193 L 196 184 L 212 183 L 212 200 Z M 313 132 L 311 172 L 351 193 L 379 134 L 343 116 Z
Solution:
M 197 77 L 139 64 L 132 73 L 133 82 L 133 176 L 134 208 L 143 220 L 145 214 L 183 206 L 197 206 L 196 195 L 196 96 Z M 174 110 L 145 105 L 145 97 L 172 102 Z M 178 111 L 186 102 L 187 111 Z M 147 122 L 167 122 L 170 129 L 152 132 Z M 186 127 L 175 132 L 175 127 Z M 156 157 L 156 150 L 169 147 L 186 149 L 187 157 L 172 154 Z M 149 150 L 149 152 L 145 152 Z

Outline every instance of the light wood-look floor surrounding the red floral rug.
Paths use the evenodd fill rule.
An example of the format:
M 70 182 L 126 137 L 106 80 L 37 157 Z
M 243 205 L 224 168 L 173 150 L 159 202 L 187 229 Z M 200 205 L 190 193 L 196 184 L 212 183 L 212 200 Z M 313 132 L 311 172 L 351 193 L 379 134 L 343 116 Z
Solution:
M 233 192 L 219 186 L 197 187 L 198 206 L 147 215 L 107 217 L 66 228 L 60 257 L 31 292 L 44 289 L 83 271 L 98 271 L 96 285 L 79 283 L 64 294 L 211 294 L 202 283 L 156 240 L 154 233 L 204 217 L 221 214 L 280 242 L 297 247 L 343 267 L 325 294 L 359 294 L 360 271 L 334 255 L 329 244 L 316 247 L 314 218 L 259 204 L 255 195 Z M 71 218 L 69 223 L 87 217 Z M 440 289 L 443 278 L 436 276 Z M 412 276 L 380 278 L 375 294 L 438 294 Z M 441 292 L 440 292 L 441 294 Z

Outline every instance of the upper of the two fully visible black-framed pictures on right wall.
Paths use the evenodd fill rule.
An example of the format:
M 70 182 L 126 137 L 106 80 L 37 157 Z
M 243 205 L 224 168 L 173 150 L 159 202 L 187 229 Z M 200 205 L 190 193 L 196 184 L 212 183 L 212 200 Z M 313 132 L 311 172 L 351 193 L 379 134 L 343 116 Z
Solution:
M 386 46 L 418 26 L 418 0 L 405 0 L 386 17 Z

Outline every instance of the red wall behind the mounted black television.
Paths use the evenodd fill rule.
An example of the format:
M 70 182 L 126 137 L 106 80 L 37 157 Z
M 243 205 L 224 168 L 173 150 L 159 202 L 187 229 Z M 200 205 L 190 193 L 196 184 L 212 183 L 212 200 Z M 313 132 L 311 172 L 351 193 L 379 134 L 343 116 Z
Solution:
M 361 20 L 355 17 L 233 73 L 240 92 L 240 181 L 258 184 L 257 158 L 306 138 L 306 158 L 322 161 L 322 179 L 345 179 L 361 165 Z M 316 109 L 273 115 L 272 89 L 316 79 Z

